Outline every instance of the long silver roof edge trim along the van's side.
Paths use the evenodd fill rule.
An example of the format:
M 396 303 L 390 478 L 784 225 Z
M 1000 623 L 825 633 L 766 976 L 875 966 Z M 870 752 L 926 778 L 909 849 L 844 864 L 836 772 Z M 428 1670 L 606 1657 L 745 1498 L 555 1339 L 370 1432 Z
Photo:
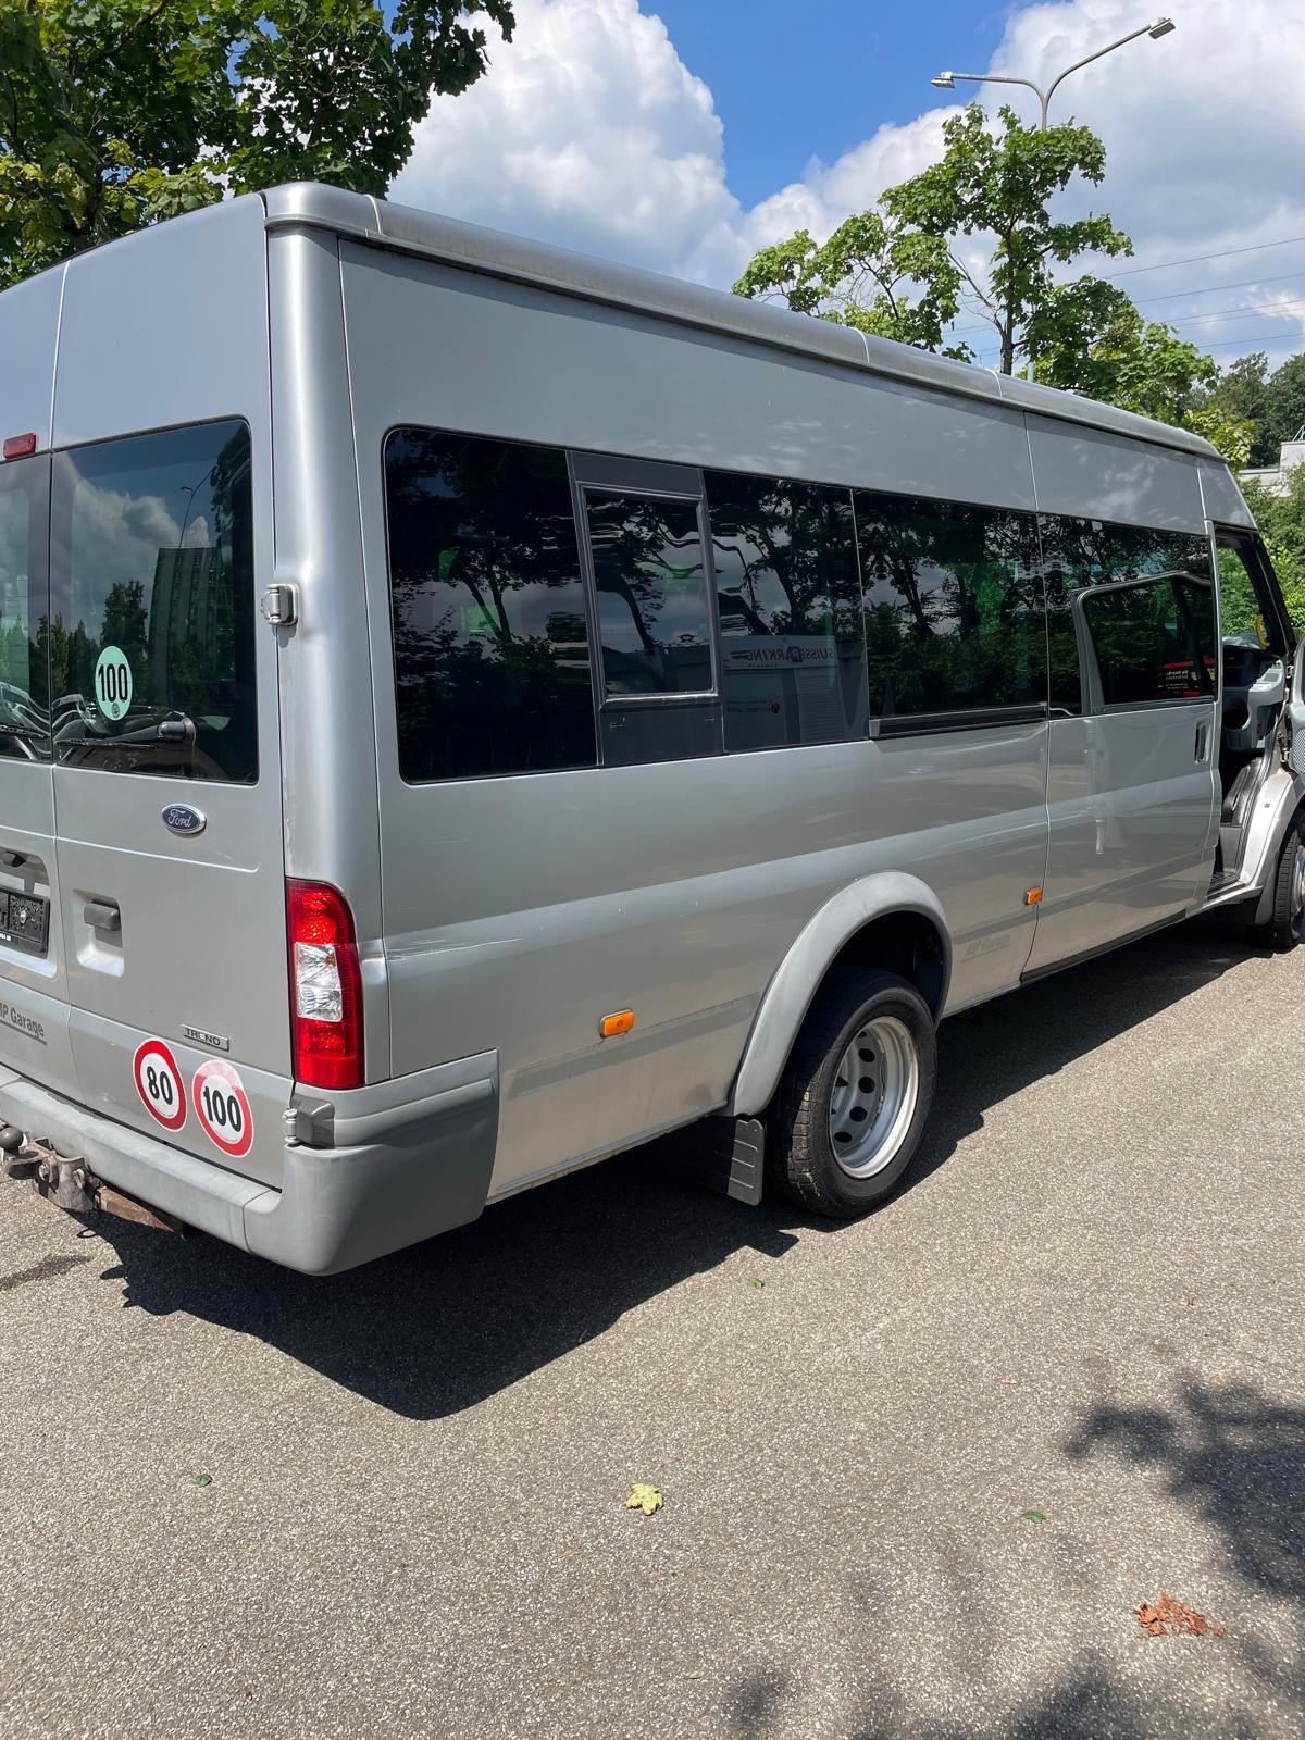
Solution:
M 501 230 L 442 218 L 412 205 L 393 205 L 365 193 L 345 193 L 339 188 L 311 181 L 268 188 L 259 197 L 266 207 L 270 230 L 311 224 L 381 247 L 423 254 L 472 271 L 680 320 L 731 338 L 771 345 L 776 350 L 823 357 L 826 362 L 868 369 L 872 374 L 910 381 L 917 386 L 1004 402 L 1020 411 L 1061 418 L 1117 435 L 1133 435 L 1164 447 L 1215 458 L 1220 465 L 1227 465 L 1216 447 L 1188 430 L 1155 423 L 1152 418 L 1119 411 L 1115 405 L 1103 405 L 1075 393 L 1058 392 L 1054 386 L 1039 386 L 967 362 L 934 357 L 910 345 L 858 332 L 854 327 L 813 320 L 811 315 L 795 315 L 769 303 L 753 303 L 726 291 L 710 291 L 701 284 L 686 284 L 658 271 L 619 266 L 614 261 L 576 254 L 546 242 L 529 242 Z

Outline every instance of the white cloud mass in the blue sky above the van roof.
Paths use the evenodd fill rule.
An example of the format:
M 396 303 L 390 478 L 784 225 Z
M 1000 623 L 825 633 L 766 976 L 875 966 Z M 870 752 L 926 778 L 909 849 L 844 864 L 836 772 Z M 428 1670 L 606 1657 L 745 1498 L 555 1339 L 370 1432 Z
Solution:
M 1075 209 L 1110 211 L 1138 245 L 1107 271 L 1305 237 L 1305 7 L 1171 0 L 1171 14 L 1176 31 L 1082 68 L 1053 99 L 1053 120 L 1086 120 L 1107 144 L 1103 188 L 1072 191 Z M 1148 17 L 1140 0 L 1041 0 L 1011 12 L 987 70 L 1046 84 Z M 800 226 L 828 235 L 915 174 L 955 111 L 884 125 L 745 211 L 727 186 L 712 92 L 637 0 L 517 0 L 517 21 L 512 44 L 491 45 L 484 80 L 437 99 L 393 197 L 713 284 Z M 1037 118 L 1032 92 L 957 87 L 957 99 L 969 94 Z M 1270 282 L 1293 266 L 1305 266 L 1305 245 L 1122 282 L 1145 313 L 1180 322 L 1227 362 L 1256 345 L 1279 357 L 1305 346 L 1295 336 L 1305 275 Z

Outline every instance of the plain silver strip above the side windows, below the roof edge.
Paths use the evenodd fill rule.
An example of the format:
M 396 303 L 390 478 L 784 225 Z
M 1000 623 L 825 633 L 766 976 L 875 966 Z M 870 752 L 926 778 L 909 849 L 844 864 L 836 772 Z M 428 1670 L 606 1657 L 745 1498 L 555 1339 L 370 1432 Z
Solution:
M 353 242 L 341 258 L 346 294 L 365 273 L 376 298 L 350 298 L 355 390 L 385 367 L 407 388 L 392 421 L 1034 506 L 1023 416 L 1004 405 Z

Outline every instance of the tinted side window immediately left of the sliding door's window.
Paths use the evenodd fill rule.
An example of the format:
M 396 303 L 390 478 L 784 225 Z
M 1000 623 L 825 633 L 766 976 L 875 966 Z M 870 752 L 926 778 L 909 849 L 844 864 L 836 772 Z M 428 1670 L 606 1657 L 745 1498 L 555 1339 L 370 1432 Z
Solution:
M 870 491 L 854 501 L 870 717 L 1042 705 L 1034 517 Z

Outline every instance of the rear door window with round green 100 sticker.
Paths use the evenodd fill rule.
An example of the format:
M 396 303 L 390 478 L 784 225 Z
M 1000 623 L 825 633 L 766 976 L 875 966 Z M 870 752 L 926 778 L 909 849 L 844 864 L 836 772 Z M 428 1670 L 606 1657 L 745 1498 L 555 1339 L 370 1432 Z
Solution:
M 61 452 L 50 555 L 59 762 L 256 781 L 247 426 Z

